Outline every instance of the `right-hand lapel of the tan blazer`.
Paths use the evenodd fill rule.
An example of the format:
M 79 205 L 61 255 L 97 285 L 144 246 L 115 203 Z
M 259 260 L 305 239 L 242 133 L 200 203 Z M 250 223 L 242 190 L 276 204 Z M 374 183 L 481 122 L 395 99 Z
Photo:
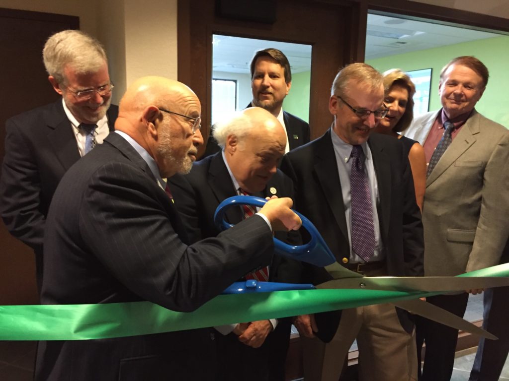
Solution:
M 475 135 L 479 133 L 479 118 L 477 111 L 473 111 L 453 142 L 444 152 L 436 167 L 426 180 L 426 186 L 432 184 L 447 168 L 453 165 L 458 158 L 475 143 Z

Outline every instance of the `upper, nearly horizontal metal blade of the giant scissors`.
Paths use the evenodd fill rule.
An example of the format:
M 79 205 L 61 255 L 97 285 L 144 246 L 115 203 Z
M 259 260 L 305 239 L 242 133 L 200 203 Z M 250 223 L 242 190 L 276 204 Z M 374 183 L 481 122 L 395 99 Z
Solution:
M 319 289 L 450 292 L 509 285 L 509 277 L 495 276 L 374 276 L 340 278 L 319 284 Z

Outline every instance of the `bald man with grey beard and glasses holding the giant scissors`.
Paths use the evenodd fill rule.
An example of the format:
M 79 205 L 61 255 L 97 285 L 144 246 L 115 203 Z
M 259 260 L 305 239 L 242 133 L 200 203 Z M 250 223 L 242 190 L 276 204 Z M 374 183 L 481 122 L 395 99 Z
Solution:
M 44 237 L 43 304 L 150 301 L 192 311 L 270 263 L 273 230 L 298 229 L 291 199 L 206 242 L 188 237 L 163 178 L 195 160 L 201 104 L 184 84 L 135 81 L 116 132 L 63 177 Z M 249 234 L 246 234 L 246 232 Z M 210 329 L 39 343 L 36 380 L 196 380 L 215 366 Z

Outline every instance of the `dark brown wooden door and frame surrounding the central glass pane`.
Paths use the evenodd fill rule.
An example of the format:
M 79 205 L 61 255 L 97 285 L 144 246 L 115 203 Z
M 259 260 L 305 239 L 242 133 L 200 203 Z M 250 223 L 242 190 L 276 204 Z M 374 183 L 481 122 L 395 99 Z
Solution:
M 178 3 L 178 77 L 202 103 L 204 140 L 207 141 L 210 132 L 213 34 L 312 45 L 309 126 L 312 139 L 321 136 L 332 122 L 328 100 L 334 76 L 347 63 L 363 60 L 365 19 L 359 21 L 359 15 L 364 6 L 322 1 L 238 0 L 241 9 L 245 5 L 244 16 L 227 18 L 216 10 L 221 3 L 225 2 Z M 271 6 L 264 9 L 261 4 Z M 274 22 L 252 21 L 257 14 L 271 12 Z M 245 21 L 246 18 L 251 20 Z M 204 150 L 201 147 L 199 153 Z

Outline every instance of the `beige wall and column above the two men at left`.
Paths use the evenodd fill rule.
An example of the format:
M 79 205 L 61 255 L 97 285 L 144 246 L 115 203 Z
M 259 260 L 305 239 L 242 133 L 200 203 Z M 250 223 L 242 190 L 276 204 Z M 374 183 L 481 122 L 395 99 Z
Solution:
M 78 16 L 80 29 L 106 47 L 115 103 L 138 77 L 177 79 L 177 0 L 0 0 L 0 7 Z

